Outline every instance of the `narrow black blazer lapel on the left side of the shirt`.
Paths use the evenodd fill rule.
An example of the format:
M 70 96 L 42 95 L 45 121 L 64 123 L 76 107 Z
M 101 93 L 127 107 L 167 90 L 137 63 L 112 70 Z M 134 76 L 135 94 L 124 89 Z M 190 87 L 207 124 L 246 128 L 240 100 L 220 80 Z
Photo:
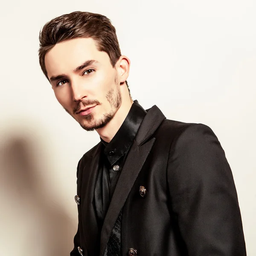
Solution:
M 83 220 L 83 230 L 87 249 L 91 256 L 95 255 L 96 240 L 99 239 L 96 210 L 94 207 L 94 193 L 96 180 L 100 165 L 101 144 L 99 144 L 93 157 L 90 157 L 88 164 L 84 166 L 82 191 L 84 198 L 81 200 L 81 214 Z

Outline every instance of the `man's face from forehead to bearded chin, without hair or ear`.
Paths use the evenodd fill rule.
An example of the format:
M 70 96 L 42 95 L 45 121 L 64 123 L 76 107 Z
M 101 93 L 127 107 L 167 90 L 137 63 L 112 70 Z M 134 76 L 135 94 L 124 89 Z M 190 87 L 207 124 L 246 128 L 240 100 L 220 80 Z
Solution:
M 92 38 L 56 44 L 45 65 L 58 102 L 82 128 L 93 131 L 111 121 L 122 103 L 118 73 Z

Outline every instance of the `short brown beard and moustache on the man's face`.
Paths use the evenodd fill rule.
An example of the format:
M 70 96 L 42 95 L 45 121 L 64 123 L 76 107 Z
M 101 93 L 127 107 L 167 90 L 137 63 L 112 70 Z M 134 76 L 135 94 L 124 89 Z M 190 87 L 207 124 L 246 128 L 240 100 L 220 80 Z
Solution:
M 103 116 L 99 119 L 95 119 L 93 116 L 93 113 L 90 113 L 86 116 L 82 116 L 85 122 L 79 122 L 79 124 L 84 130 L 94 131 L 96 129 L 103 128 L 113 119 L 116 111 L 118 111 L 122 103 L 122 97 L 121 97 L 119 84 L 117 83 L 117 77 L 115 77 L 114 83 L 116 85 L 116 93 L 115 93 L 115 90 L 111 88 L 111 90 L 109 90 L 108 93 L 106 94 L 106 99 L 111 106 L 111 111 L 109 111 L 108 113 L 104 113 Z M 95 104 L 101 105 L 101 103 L 97 100 L 81 101 L 78 103 L 76 108 L 73 109 L 73 113 L 75 114 L 77 111 L 79 111 L 79 109 L 81 109 L 81 105 L 84 105 L 84 107 L 86 107 L 86 106 L 95 105 Z M 67 109 L 65 110 L 67 111 Z M 67 113 L 71 115 L 69 111 L 67 111 Z

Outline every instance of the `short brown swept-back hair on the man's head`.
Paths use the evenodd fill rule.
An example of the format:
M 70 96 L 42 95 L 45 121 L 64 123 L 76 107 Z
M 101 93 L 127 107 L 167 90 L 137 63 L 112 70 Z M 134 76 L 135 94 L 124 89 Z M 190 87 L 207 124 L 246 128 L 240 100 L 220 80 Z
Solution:
M 79 37 L 93 38 L 98 50 L 108 53 L 112 67 L 115 66 L 121 56 L 121 51 L 116 37 L 116 29 L 111 24 L 111 20 L 96 13 L 71 12 L 50 20 L 40 31 L 39 63 L 47 79 L 44 61 L 47 52 L 55 44 Z M 125 83 L 128 87 L 127 81 Z

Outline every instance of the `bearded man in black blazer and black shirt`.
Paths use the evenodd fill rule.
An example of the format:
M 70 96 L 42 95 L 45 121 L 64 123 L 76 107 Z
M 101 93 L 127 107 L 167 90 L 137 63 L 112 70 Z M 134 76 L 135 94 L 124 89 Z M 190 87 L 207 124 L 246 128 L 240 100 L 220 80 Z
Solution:
M 77 168 L 71 256 L 244 256 L 230 166 L 206 125 L 145 111 L 130 61 L 102 15 L 73 12 L 40 33 L 39 59 L 58 102 L 100 142 Z

